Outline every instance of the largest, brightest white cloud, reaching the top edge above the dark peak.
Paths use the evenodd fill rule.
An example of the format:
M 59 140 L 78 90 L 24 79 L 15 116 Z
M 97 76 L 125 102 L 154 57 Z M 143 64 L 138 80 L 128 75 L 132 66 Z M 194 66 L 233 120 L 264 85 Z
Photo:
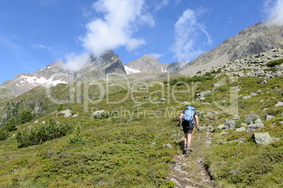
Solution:
M 86 25 L 87 34 L 81 41 L 87 51 L 99 57 L 120 46 L 132 51 L 146 43 L 132 36 L 140 25 L 154 25 L 152 16 L 144 10 L 144 0 L 99 0 L 93 6 L 103 18 Z

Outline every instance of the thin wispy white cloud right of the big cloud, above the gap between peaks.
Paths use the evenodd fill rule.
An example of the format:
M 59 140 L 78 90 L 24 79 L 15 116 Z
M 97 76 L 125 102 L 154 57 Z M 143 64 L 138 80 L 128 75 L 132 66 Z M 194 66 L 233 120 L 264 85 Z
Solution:
M 202 44 L 212 43 L 210 35 L 206 31 L 206 26 L 199 23 L 197 20 L 197 16 L 205 12 L 203 8 L 199 10 L 200 11 L 196 12 L 187 9 L 174 25 L 175 43 L 172 50 L 175 52 L 173 58 L 178 61 L 190 62 L 203 53 L 202 48 L 197 47 L 199 46 L 197 45 L 199 36 L 204 34 L 207 39 L 206 42 Z

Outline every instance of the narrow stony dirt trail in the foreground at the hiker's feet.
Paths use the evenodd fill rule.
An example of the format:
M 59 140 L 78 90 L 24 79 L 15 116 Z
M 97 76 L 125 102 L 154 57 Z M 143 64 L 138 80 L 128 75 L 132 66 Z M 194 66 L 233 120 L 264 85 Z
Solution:
M 198 139 L 198 133 L 194 133 L 194 140 Z M 205 143 L 204 148 L 208 149 L 211 144 L 212 137 L 209 132 L 206 132 L 201 143 Z M 182 141 L 181 143 L 184 143 Z M 182 145 L 182 144 L 181 144 Z M 183 146 L 182 146 L 183 147 Z M 210 175 L 206 171 L 205 160 L 200 160 L 199 141 L 192 142 L 191 149 L 198 153 L 198 158 L 191 154 L 183 155 L 179 149 L 179 154 L 174 157 L 175 163 L 169 168 L 170 180 L 177 184 L 176 187 L 196 188 L 196 187 L 218 187 L 210 180 Z M 202 162 L 201 162 L 202 161 Z

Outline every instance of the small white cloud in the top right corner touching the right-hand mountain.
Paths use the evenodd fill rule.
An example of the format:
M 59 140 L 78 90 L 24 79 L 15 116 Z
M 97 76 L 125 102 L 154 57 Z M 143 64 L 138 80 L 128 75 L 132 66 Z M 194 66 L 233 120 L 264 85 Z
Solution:
M 272 25 L 283 25 L 283 0 L 267 0 L 264 3 L 265 21 Z

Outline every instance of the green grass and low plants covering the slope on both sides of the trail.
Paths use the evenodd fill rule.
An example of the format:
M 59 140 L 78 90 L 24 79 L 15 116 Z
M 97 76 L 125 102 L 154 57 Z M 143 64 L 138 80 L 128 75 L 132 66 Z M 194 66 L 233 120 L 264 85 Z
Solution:
M 221 80 L 222 77 L 218 79 Z M 239 78 L 234 83 L 227 81 L 225 86 L 217 88 L 218 90 L 208 95 L 203 102 L 193 101 L 195 93 L 213 90 L 212 83 L 218 82 L 215 79 L 199 83 L 195 87 L 190 85 L 189 90 L 185 86 L 163 87 L 149 82 L 147 84 L 151 87 L 132 90 L 132 95 L 127 95 L 129 93 L 125 92 L 113 93 L 113 90 L 123 90 L 123 87 L 115 83 L 115 86 L 111 87 L 113 90 L 108 101 L 104 98 L 98 104 L 84 103 L 84 98 L 82 103 L 74 104 L 74 112 L 80 114 L 78 117 L 56 117 L 54 113 L 38 119 L 39 123 L 53 118 L 56 121 L 70 121 L 75 125 L 81 125 L 81 135 L 87 137 L 85 145 L 70 144 L 69 137 L 65 136 L 42 145 L 19 148 L 15 137 L 12 137 L 16 131 L 10 133 L 8 140 L 0 141 L 0 186 L 154 187 L 156 182 L 160 181 L 158 185 L 166 187 L 169 184 L 165 180 L 168 176 L 168 166 L 173 162 L 172 156 L 177 152 L 177 137 L 174 136 L 177 130 L 177 116 L 180 110 L 187 107 L 182 102 L 191 102 L 196 105 L 197 111 L 204 112 L 203 114 L 212 109 L 217 111 L 219 113 L 217 118 L 206 116 L 205 119 L 200 114 L 201 126 L 213 124 L 217 128 L 225 119 L 232 118 L 233 115 L 221 110 L 220 106 L 229 107 L 230 87 L 239 86 L 241 87 L 239 95 L 256 93 L 258 90 L 264 94 L 243 100 L 244 102 L 239 98 L 241 119 L 238 123 L 243 122 L 244 116 L 251 111 L 258 114 L 262 120 L 265 114 L 272 114 L 277 117 L 276 121 L 265 121 L 265 128 L 256 132 L 268 132 L 271 137 L 280 137 L 281 140 L 270 146 L 261 146 L 251 141 L 252 133 L 229 131 L 227 135 L 219 135 L 220 130 L 216 130 L 216 133 L 213 133 L 212 147 L 203 151 L 206 163 L 210 166 L 215 181 L 225 187 L 261 187 L 262 185 L 279 187 L 282 185 L 283 133 L 279 121 L 283 119 L 280 118 L 282 107 L 274 107 L 274 105 L 282 99 L 282 76 L 269 79 L 268 84 L 258 84 L 259 81 L 260 78 Z M 146 87 L 146 84 L 142 85 Z M 174 93 L 172 93 L 173 88 Z M 192 88 L 194 90 L 191 90 Z M 84 96 L 83 86 L 80 89 L 81 91 L 75 90 L 75 101 L 78 95 Z M 277 92 L 278 89 L 280 92 Z M 68 96 L 68 90 L 68 85 L 60 84 L 52 88 L 51 93 L 57 99 L 63 100 Z M 161 90 L 164 90 L 164 95 Z M 182 92 L 183 90 L 186 91 Z M 270 92 L 266 93 L 267 91 Z M 27 98 L 37 93 L 41 92 L 26 93 L 21 97 Z M 95 86 L 92 86 L 89 88 L 89 93 L 92 93 L 90 97 L 94 99 L 98 97 L 99 92 Z M 147 95 L 151 97 L 144 98 Z M 160 102 L 161 98 L 169 100 Z M 226 102 L 221 103 L 222 100 Z M 264 102 L 260 103 L 260 100 Z M 213 101 L 218 102 L 220 106 Z M 44 102 L 48 103 L 46 97 Z M 204 102 L 209 102 L 210 105 Z M 88 112 L 85 112 L 84 104 L 88 105 Z M 65 108 L 68 106 L 69 104 L 64 105 Z M 55 111 L 57 107 L 51 109 Z M 263 112 L 262 109 L 266 107 L 269 109 Z M 112 113 L 115 109 L 118 114 L 106 119 L 94 119 L 92 108 L 104 109 L 108 113 Z M 18 129 L 23 130 L 30 125 L 37 126 L 39 123 L 25 123 L 18 126 Z M 201 130 L 201 135 L 204 135 L 205 131 Z M 245 144 L 239 145 L 235 142 L 219 145 L 222 141 L 237 140 L 240 137 L 245 138 Z M 153 142 L 156 142 L 156 145 L 152 146 Z M 168 143 L 173 146 L 172 149 L 163 146 Z M 241 173 L 234 175 L 231 173 L 232 170 Z

